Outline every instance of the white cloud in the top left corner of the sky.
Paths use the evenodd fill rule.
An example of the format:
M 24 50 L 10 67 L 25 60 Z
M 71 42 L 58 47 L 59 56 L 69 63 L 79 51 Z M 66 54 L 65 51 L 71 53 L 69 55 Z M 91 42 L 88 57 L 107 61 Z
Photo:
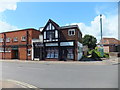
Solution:
M 0 0 L 0 12 L 5 10 L 16 10 L 17 2 L 20 0 Z

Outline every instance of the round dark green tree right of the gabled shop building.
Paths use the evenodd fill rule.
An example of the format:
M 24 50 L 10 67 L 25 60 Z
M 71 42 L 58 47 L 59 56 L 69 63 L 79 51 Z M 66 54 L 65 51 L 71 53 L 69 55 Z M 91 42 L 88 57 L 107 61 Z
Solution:
M 97 39 L 92 35 L 85 35 L 82 39 L 83 45 L 87 45 L 89 49 L 96 47 Z

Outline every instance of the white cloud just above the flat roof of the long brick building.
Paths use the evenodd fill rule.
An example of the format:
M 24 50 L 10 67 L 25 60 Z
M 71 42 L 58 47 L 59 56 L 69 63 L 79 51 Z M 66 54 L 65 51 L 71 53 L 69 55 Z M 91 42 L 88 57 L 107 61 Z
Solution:
M 0 33 L 6 31 L 13 31 L 18 29 L 16 26 L 10 25 L 7 22 L 0 21 Z

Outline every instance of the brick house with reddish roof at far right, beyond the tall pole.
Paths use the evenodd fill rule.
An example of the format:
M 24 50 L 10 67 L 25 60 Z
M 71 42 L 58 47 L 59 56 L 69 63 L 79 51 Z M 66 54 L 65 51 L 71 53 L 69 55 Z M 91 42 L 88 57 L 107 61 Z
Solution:
M 104 52 L 120 52 L 120 40 L 115 38 L 103 38 L 99 44 L 103 45 Z

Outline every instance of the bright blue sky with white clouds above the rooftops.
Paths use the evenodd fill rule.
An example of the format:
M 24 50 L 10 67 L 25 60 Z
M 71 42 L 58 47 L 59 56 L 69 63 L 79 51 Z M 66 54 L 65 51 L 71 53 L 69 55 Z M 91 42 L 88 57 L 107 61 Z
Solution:
M 52 19 L 60 26 L 78 25 L 83 36 L 99 41 L 100 14 L 103 37 L 118 38 L 117 2 L 0 2 L 0 32 L 39 29 Z

